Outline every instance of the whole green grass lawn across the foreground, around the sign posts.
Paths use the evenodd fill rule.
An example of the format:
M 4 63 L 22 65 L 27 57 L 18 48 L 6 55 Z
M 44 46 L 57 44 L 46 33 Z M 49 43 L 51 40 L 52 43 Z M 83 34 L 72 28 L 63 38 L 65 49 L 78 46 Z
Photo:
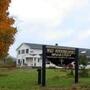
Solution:
M 37 85 L 36 69 L 0 69 L 0 90 L 70 90 L 74 85 L 74 77 L 67 76 L 68 72 L 47 69 L 47 85 L 45 88 Z M 90 77 L 80 78 L 78 90 L 90 90 Z M 69 89 L 60 89 L 69 88 Z

